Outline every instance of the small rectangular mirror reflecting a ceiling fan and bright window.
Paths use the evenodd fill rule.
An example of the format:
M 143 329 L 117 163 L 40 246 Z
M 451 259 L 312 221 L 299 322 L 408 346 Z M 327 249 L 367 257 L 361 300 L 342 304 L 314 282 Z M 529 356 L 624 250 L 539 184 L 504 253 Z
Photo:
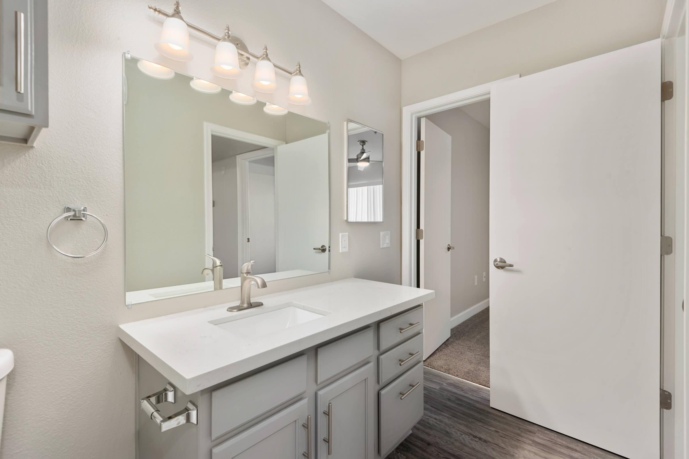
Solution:
M 347 222 L 383 221 L 383 133 L 347 120 Z

